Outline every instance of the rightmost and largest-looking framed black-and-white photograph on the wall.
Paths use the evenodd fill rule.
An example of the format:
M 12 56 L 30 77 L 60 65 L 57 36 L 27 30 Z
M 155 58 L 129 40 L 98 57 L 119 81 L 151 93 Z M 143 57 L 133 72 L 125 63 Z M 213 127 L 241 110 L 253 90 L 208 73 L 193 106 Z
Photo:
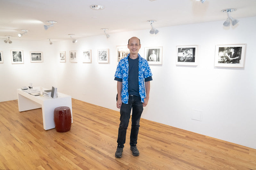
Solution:
M 216 45 L 215 67 L 244 68 L 246 44 Z

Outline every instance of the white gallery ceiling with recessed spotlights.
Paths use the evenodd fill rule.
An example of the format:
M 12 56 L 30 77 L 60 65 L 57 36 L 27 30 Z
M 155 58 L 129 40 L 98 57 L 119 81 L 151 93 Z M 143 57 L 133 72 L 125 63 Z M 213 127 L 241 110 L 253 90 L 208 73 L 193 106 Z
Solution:
M 92 10 L 91 5 L 103 5 Z M 157 20 L 154 27 L 225 21 L 223 9 L 236 8 L 233 18 L 256 16 L 256 0 L 0 0 L 0 38 L 12 35 L 11 40 L 52 41 L 103 35 L 106 32 L 151 29 L 147 20 Z M 48 30 L 47 20 L 54 20 Z M 239 23 L 237 24 L 239 26 Z M 21 38 L 21 29 L 29 30 Z

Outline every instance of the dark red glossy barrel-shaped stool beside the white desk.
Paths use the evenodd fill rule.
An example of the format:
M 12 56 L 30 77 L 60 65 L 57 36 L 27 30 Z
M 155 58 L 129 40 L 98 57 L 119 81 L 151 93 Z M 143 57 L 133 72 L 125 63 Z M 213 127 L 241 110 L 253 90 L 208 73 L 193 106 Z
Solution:
M 54 123 L 57 132 L 67 132 L 71 128 L 71 111 L 69 107 L 62 106 L 54 109 Z

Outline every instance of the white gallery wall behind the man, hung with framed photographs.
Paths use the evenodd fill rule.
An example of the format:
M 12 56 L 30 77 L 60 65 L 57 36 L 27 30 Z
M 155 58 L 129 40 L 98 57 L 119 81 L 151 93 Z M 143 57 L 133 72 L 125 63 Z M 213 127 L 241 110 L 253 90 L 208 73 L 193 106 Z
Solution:
M 163 64 L 151 65 L 153 81 L 143 118 L 256 149 L 256 58 L 253 49 L 256 45 L 256 17 L 239 20 L 237 26 L 230 28 L 224 28 L 223 21 L 172 26 L 158 28 L 160 33 L 157 35 L 149 34 L 149 30 L 139 30 L 111 34 L 109 39 L 104 35 L 81 38 L 76 44 L 71 40 L 55 42 L 54 48 L 37 42 L 44 47 L 41 51 L 51 52 L 52 57 L 58 57 L 59 51 L 66 51 L 67 61 L 60 63 L 53 60 L 53 64 L 46 63 L 45 58 L 45 65 L 55 65 L 56 79 L 51 77 L 52 79 L 44 82 L 38 79 L 34 84 L 48 87 L 56 81 L 59 92 L 67 93 L 78 100 L 118 110 L 115 101 L 116 81 L 113 80 L 116 70 L 116 46 L 126 45 L 130 37 L 137 36 L 141 40 L 139 53 L 142 56 L 145 47 L 163 47 Z M 214 67 L 215 45 L 239 43 L 247 44 L 244 68 Z M 18 47 L 34 50 L 30 45 L 31 43 L 23 48 Z M 175 65 L 176 46 L 180 45 L 198 45 L 198 66 Z M 7 52 L 10 51 L 9 46 Z M 106 48 L 110 51 L 110 62 L 99 64 L 97 49 Z M 92 50 L 92 63 L 81 61 L 82 50 L 87 49 Z M 77 51 L 78 63 L 70 63 L 71 50 Z M 4 64 L 0 64 L 0 71 L 3 70 L 7 75 L 3 77 L 1 74 L 1 86 L 2 79 L 8 81 L 12 76 L 11 70 L 18 70 L 11 61 L 5 63 L 4 60 Z M 34 64 L 38 63 L 28 61 L 19 67 L 30 68 Z M 17 77 L 22 76 L 23 74 Z M 33 76 L 29 77 L 26 83 L 30 82 Z M 45 77 L 45 73 L 38 77 Z M 17 99 L 15 89 L 24 83 L 19 80 L 19 85 L 8 86 L 14 83 L 14 80 L 5 83 L 5 90 L 0 89 L 0 101 L 6 101 L 5 98 Z M 4 91 L 7 92 L 2 97 Z M 8 95 L 10 96 L 7 97 Z M 202 121 L 191 119 L 192 109 L 202 110 Z

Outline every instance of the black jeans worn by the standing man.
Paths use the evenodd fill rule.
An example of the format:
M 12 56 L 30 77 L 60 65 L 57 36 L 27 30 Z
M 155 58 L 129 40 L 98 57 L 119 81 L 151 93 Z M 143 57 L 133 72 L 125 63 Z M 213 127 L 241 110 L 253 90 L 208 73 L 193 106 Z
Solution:
M 120 108 L 120 125 L 118 129 L 117 147 L 123 148 L 126 139 L 126 130 L 129 125 L 132 109 L 132 127 L 130 134 L 130 145 L 137 144 L 137 138 L 140 127 L 140 117 L 143 111 L 141 98 L 134 95 L 129 95 L 128 104 L 122 103 Z

